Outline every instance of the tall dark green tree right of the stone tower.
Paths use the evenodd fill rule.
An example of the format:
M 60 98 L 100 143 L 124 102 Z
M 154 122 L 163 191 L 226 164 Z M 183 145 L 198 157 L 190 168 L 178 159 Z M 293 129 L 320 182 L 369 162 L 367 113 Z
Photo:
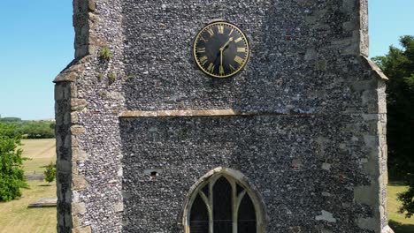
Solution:
M 410 184 L 399 195 L 401 211 L 414 214 L 414 36 L 400 39 L 402 49 L 391 46 L 386 56 L 373 60 L 380 65 L 387 83 L 387 145 L 390 177 Z

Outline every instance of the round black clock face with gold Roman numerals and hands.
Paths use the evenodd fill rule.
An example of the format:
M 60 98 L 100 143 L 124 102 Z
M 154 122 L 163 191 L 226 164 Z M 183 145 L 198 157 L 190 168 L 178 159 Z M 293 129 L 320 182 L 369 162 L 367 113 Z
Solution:
M 197 34 L 194 57 L 198 67 L 214 78 L 242 71 L 249 60 L 249 42 L 242 31 L 226 22 L 214 22 Z

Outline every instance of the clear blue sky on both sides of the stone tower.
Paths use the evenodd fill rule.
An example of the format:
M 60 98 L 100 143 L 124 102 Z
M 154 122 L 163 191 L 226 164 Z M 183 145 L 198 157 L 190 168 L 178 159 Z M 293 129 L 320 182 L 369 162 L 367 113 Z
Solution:
M 370 0 L 370 56 L 414 35 L 413 0 Z M 72 0 L 0 0 L 0 115 L 54 117 L 51 82 L 73 59 Z

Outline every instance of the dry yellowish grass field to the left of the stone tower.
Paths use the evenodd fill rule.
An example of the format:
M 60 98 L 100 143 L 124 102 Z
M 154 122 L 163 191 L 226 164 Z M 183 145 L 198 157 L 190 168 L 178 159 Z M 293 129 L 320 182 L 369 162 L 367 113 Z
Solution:
M 24 139 L 23 156 L 26 174 L 39 174 L 49 162 L 56 161 L 55 139 Z M 30 189 L 23 190 L 20 199 L 0 203 L 0 233 L 56 232 L 56 208 L 27 208 L 29 203 L 42 198 L 56 197 L 56 184 L 28 181 Z

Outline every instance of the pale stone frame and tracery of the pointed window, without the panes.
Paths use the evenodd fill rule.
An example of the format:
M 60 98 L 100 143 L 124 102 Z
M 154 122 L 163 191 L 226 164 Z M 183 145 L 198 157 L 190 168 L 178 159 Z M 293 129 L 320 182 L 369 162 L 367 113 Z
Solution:
M 183 209 L 183 214 L 182 214 L 183 216 L 182 224 L 184 226 L 184 232 L 191 233 L 190 232 L 190 214 L 191 214 L 191 208 L 192 208 L 193 202 L 196 199 L 197 195 L 199 193 L 203 193 L 200 191 L 203 189 L 205 185 L 210 185 L 209 192 L 211 192 L 212 186 L 215 184 L 216 181 L 219 180 L 220 177 L 226 177 L 227 181 L 231 184 L 232 190 L 233 190 L 232 195 L 236 195 L 236 199 L 232 198 L 232 200 L 233 202 L 237 201 L 238 203 L 238 205 L 234 205 L 236 203 L 232 204 L 232 213 L 233 215 L 235 214 L 233 217 L 233 232 L 232 233 L 237 233 L 237 227 L 234 227 L 234 226 L 237 226 L 237 216 L 238 216 L 237 207 L 240 207 L 239 206 L 240 202 L 242 201 L 243 197 L 246 194 L 249 194 L 249 198 L 251 199 L 251 201 L 253 202 L 253 206 L 255 207 L 256 224 L 257 224 L 256 231 L 257 233 L 265 233 L 265 228 L 267 225 L 266 222 L 268 221 L 267 221 L 267 215 L 265 214 L 265 203 L 262 201 L 262 198 L 260 197 L 259 193 L 254 189 L 254 187 L 251 184 L 249 184 L 248 178 L 245 177 L 242 174 L 242 172 L 238 170 L 234 170 L 234 169 L 223 168 L 223 167 L 212 169 L 206 175 L 201 177 L 196 182 L 196 184 L 194 184 L 191 187 L 190 191 L 188 192 L 188 198 L 187 198 L 186 204 Z M 234 192 L 237 186 L 236 184 L 239 184 L 244 189 L 244 191 L 240 193 L 238 196 L 237 196 L 237 193 Z M 212 232 L 213 220 L 212 220 L 211 199 L 208 199 L 203 194 L 201 194 L 200 196 L 202 196 L 202 199 L 204 200 L 204 203 L 207 206 L 207 211 L 209 213 L 209 232 L 208 233 L 213 233 Z M 207 203 L 206 201 L 209 201 L 209 202 Z

